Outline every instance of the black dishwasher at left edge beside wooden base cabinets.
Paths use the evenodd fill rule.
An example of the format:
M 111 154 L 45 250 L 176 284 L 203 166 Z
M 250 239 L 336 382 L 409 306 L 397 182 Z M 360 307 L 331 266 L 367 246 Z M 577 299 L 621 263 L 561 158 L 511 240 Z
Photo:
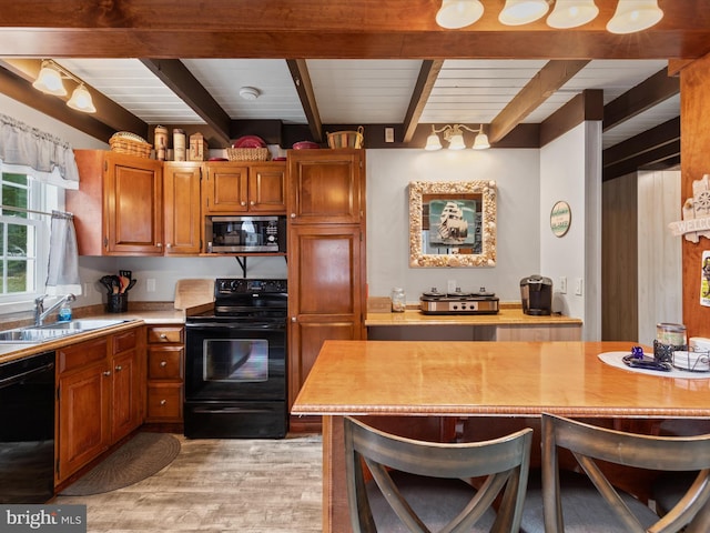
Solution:
M 0 363 L 0 503 L 54 491 L 54 352 Z

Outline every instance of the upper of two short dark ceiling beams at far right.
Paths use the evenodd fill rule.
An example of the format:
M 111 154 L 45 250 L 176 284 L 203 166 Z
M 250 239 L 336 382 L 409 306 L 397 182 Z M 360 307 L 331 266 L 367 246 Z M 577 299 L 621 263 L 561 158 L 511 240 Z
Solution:
M 680 79 L 662 69 L 605 105 L 602 130 L 619 125 L 679 93 Z

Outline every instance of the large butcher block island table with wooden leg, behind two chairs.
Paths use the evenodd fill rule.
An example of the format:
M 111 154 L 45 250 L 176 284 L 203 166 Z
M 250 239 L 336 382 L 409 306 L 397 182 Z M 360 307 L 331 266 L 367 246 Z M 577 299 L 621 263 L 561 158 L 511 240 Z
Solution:
M 291 410 L 323 415 L 323 531 L 351 531 L 345 415 L 439 439 L 454 436 L 459 423 L 480 436 L 495 426 L 491 418 L 526 424 L 542 412 L 621 421 L 710 418 L 710 379 L 649 375 L 599 359 L 630 349 L 629 342 L 325 341 Z

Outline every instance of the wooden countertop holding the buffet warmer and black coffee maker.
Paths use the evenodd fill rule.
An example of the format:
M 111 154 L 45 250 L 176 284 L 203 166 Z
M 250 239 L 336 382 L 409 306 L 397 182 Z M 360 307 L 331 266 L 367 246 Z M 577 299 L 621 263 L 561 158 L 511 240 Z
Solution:
M 366 326 L 376 325 L 558 325 L 579 324 L 580 319 L 551 314 L 535 316 L 525 314 L 521 308 L 501 308 L 497 314 L 424 314 L 418 309 L 404 313 L 367 313 Z

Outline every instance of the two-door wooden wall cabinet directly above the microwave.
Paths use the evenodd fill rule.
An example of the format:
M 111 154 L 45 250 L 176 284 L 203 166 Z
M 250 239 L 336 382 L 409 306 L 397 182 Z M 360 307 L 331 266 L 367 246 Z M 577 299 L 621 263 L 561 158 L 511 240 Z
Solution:
M 203 214 L 285 214 L 286 163 L 206 163 Z

